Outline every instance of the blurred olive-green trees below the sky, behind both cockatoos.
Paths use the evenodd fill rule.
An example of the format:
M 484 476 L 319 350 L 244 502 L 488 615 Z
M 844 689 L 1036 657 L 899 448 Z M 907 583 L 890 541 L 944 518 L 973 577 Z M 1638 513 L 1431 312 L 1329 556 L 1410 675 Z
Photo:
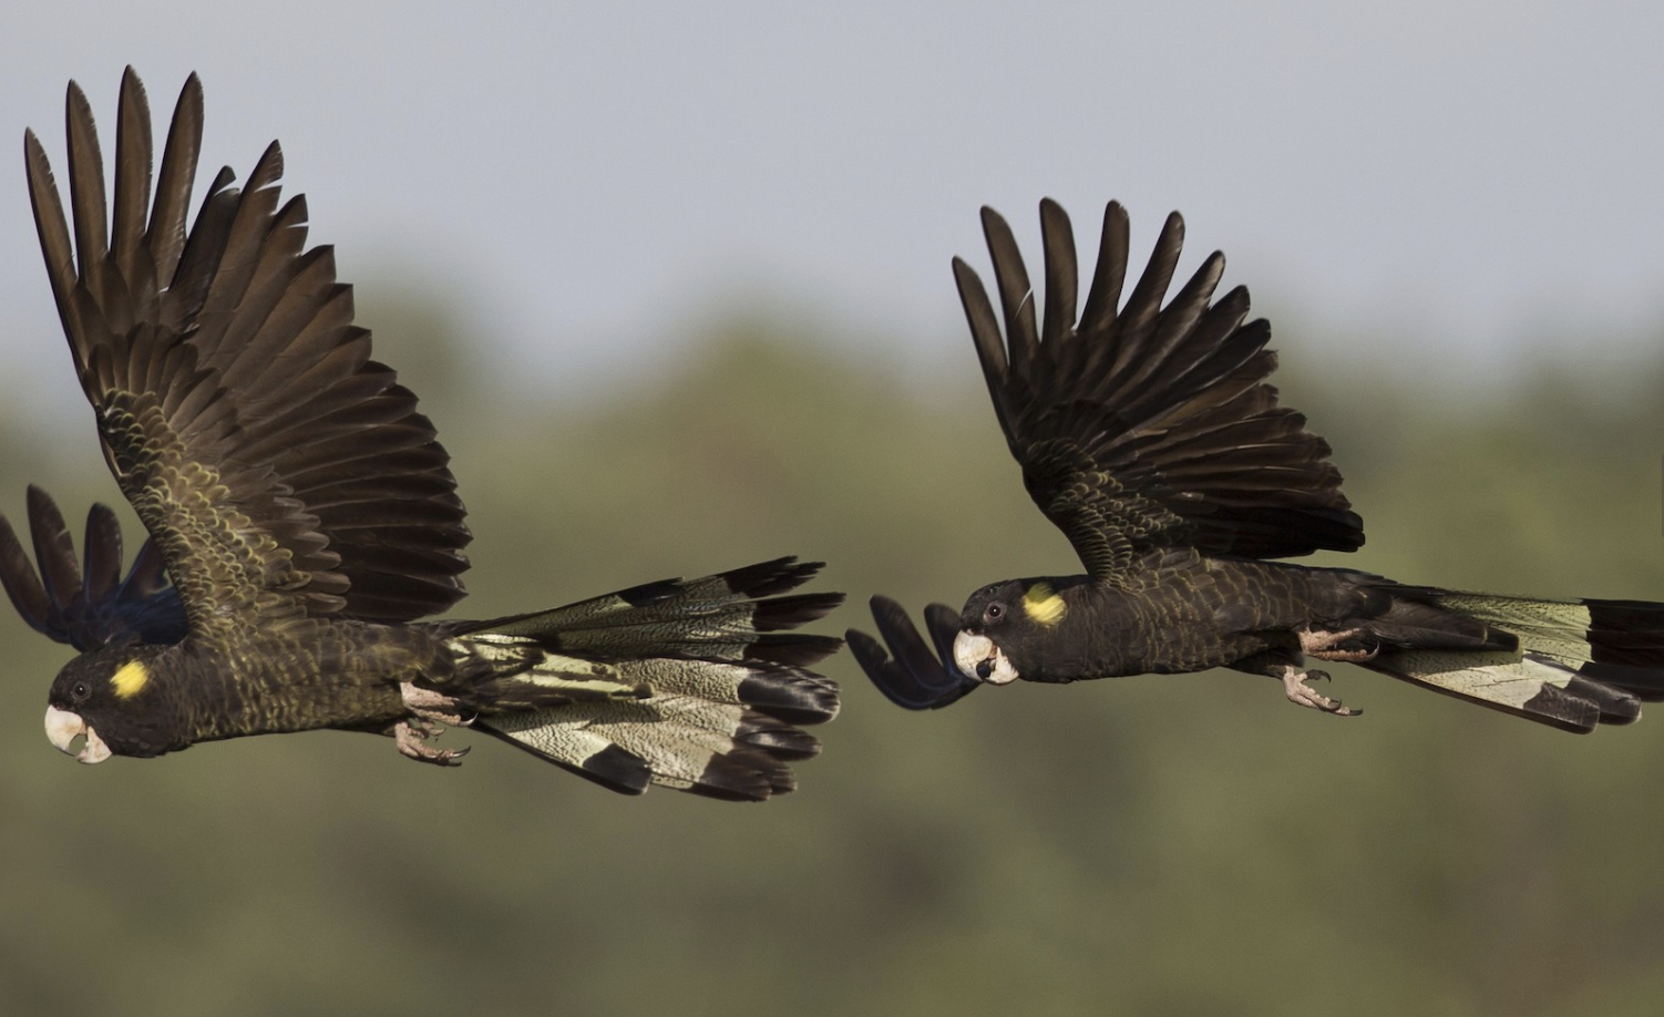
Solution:
M 436 298 L 361 288 L 454 456 L 468 616 L 795 553 L 870 628 L 1075 571 L 963 336 L 857 360 L 789 315 L 541 401 Z M 374 296 L 389 303 L 369 303 Z M 10 336 L 8 343 L 57 343 Z M 551 336 L 551 343 L 576 341 Z M 1664 599 L 1664 353 L 1429 381 L 1318 363 L 1330 438 L 1404 581 Z M 1664 343 L 1647 346 L 1664 351 Z M 1326 346 L 1333 350 L 1333 346 Z M 63 361 L 68 373 L 68 358 Z M 10 380 L 18 384 L 18 380 Z M 569 391 L 569 389 L 567 389 Z M 0 406 L 0 509 L 116 498 L 92 428 Z M 135 538 L 136 546 L 136 538 Z M 1345 721 L 1210 672 L 982 691 L 905 714 L 854 661 L 799 794 L 599 791 L 491 739 L 441 772 L 316 732 L 82 767 L 40 729 L 65 647 L 0 611 L 0 1012 L 1652 1015 L 1664 711 L 1574 737 L 1345 664 Z

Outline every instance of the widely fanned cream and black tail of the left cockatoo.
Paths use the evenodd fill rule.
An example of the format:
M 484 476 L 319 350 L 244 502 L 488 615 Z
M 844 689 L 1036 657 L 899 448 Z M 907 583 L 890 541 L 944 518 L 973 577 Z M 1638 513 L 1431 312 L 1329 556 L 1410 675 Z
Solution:
M 639 794 L 662 784 L 762 801 L 795 787 L 792 761 L 820 742 L 837 684 L 809 671 L 832 636 L 794 633 L 844 601 L 790 594 L 820 571 L 795 558 L 666 579 L 552 611 L 441 623 L 464 661 L 476 727 Z

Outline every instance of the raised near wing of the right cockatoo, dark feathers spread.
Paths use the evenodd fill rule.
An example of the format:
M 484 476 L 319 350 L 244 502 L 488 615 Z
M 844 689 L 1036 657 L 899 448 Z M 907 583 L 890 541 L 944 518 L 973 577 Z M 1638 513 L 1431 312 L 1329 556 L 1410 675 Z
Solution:
M 1166 548 L 1286 558 L 1363 544 L 1328 443 L 1265 383 L 1276 356 L 1265 348 L 1265 320 L 1243 325 L 1248 291 L 1210 303 L 1225 256 L 1210 255 L 1161 306 L 1183 246 L 1178 213 L 1122 305 L 1128 221 L 1110 203 L 1078 321 L 1075 240 L 1062 206 L 1040 203 L 1038 321 L 1010 226 L 990 208 L 982 223 L 1003 338 L 977 273 L 955 258 L 953 276 L 988 394 L 1028 494 L 1095 579 L 1123 583 L 1142 554 Z

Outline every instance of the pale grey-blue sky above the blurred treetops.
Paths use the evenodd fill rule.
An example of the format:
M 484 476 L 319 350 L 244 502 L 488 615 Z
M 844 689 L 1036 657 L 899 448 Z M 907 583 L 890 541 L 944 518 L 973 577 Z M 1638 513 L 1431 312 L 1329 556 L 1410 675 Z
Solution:
M 20 138 L 62 165 L 65 82 L 108 125 L 125 63 L 161 110 L 200 72 L 210 168 L 281 138 L 348 281 L 556 391 L 742 301 L 968 363 L 948 258 L 1043 195 L 1083 240 L 1120 198 L 1140 246 L 1183 210 L 1310 371 L 1345 330 L 1493 384 L 1664 343 L 1661 43 L 1652 3 L 12 3 L 0 394 L 77 398 Z

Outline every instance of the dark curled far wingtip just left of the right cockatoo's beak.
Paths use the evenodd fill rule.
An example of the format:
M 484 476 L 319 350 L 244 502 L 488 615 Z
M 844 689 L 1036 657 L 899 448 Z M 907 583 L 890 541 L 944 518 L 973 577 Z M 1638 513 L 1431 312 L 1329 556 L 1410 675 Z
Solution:
M 925 628 L 930 631 L 935 652 L 919 634 L 907 609 L 890 598 L 872 598 L 872 619 L 884 642 L 857 629 L 845 633 L 845 637 L 862 671 L 890 702 L 905 709 L 942 709 L 958 702 L 980 684 L 960 674 L 952 664 L 953 637 L 958 634 L 958 614 L 952 608 L 945 604 L 925 608 Z

